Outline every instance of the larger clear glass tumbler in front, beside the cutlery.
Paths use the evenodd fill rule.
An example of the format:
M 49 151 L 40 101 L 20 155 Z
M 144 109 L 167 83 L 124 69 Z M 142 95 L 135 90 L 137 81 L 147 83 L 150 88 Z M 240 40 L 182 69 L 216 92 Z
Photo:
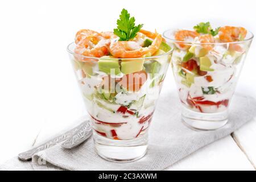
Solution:
M 69 44 L 69 57 L 90 115 L 97 154 L 115 162 L 142 158 L 172 50 L 117 59 L 77 55 L 75 46 Z

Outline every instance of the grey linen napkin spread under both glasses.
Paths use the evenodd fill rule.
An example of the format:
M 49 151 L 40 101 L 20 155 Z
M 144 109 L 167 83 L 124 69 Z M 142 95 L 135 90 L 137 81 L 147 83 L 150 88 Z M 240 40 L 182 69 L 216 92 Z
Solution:
M 194 131 L 181 122 L 181 105 L 175 94 L 162 94 L 150 128 L 148 152 L 131 163 L 108 162 L 96 154 L 93 139 L 67 150 L 59 145 L 36 154 L 32 162 L 17 158 L 7 161 L 0 170 L 162 170 L 199 148 L 229 135 L 256 115 L 252 97 L 234 95 L 229 122 L 216 131 Z M 45 160 L 45 161 L 44 161 Z

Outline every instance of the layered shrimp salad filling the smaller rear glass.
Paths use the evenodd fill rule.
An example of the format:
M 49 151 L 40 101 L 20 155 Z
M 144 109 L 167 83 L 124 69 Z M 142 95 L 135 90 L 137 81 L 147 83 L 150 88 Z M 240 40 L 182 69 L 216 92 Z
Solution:
M 170 32 L 172 68 L 185 107 L 201 113 L 225 111 L 234 93 L 250 43 L 242 27 L 199 23 L 193 30 Z

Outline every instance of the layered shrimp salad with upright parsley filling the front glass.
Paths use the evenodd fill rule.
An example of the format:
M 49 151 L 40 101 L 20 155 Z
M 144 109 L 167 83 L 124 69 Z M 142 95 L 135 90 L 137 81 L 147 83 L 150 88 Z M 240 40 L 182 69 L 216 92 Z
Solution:
M 113 32 L 80 30 L 75 38 L 72 60 L 93 129 L 110 139 L 147 131 L 171 59 L 162 36 L 134 22 L 123 9 Z

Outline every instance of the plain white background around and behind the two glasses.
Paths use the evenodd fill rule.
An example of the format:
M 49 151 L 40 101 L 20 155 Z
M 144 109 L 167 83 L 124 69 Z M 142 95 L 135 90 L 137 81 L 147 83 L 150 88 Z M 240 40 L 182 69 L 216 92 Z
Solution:
M 1 1 L 0 163 L 30 148 L 36 136 L 43 141 L 85 113 L 67 44 L 82 28 L 112 31 L 122 8 L 144 29 L 161 33 L 207 21 L 256 32 L 255 1 L 248 0 Z M 255 45 L 254 40 L 237 92 L 256 98 Z M 176 96 L 170 72 L 164 86 Z

